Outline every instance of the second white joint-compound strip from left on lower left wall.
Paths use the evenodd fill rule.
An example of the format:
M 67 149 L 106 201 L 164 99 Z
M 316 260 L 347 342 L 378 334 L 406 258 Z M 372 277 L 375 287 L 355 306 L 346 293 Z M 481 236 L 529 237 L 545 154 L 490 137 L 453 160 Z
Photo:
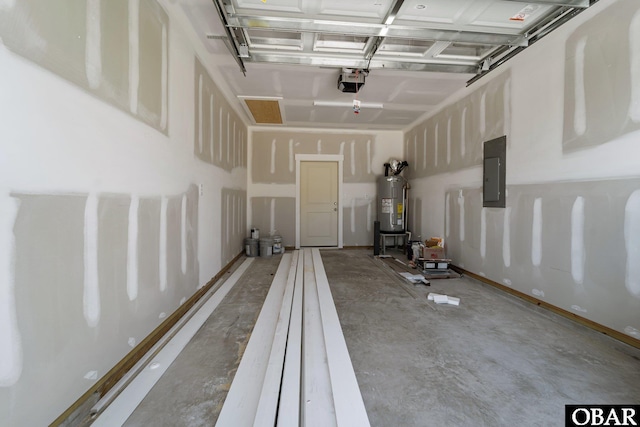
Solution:
M 100 322 L 100 283 L 98 279 L 98 196 L 90 193 L 84 208 L 84 289 L 82 308 L 87 325 Z

